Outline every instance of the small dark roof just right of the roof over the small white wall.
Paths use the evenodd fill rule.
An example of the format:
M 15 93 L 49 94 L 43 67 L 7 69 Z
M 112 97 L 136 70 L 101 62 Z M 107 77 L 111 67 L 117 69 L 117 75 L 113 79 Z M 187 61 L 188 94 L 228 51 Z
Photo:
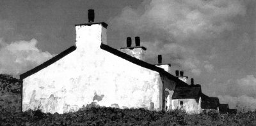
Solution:
M 220 101 L 218 97 L 202 97 L 201 108 L 202 109 L 218 109 Z

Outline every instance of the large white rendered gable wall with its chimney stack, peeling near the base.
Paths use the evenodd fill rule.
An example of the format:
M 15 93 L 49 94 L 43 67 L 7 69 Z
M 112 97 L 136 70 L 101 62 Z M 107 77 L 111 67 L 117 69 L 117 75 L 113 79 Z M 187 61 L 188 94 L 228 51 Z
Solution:
M 106 29 L 76 26 L 77 49 L 23 80 L 22 111 L 68 113 L 90 103 L 120 108 L 160 108 L 159 73 L 100 49 Z

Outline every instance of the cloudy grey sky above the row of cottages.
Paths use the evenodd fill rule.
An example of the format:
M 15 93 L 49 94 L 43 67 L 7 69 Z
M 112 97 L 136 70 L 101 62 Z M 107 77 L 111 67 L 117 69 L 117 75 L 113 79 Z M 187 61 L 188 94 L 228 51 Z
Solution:
M 76 42 L 75 24 L 108 24 L 108 45 L 140 36 L 146 61 L 172 64 L 230 108 L 256 109 L 254 0 L 0 0 L 0 73 L 19 75 Z

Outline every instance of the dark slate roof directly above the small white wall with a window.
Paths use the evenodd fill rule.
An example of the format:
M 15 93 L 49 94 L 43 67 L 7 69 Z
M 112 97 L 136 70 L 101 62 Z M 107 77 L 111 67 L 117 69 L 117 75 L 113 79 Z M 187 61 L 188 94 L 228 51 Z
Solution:
M 201 95 L 201 87 L 175 87 L 172 99 L 198 99 Z

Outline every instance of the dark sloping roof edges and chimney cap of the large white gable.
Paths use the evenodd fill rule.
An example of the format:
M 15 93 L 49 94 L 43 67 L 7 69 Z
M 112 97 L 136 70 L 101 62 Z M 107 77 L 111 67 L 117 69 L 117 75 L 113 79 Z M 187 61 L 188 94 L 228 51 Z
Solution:
M 108 26 L 108 24 L 106 24 L 104 22 L 90 23 L 90 24 L 79 24 L 79 25 L 92 25 L 92 24 L 102 24 L 103 27 L 107 27 Z M 105 50 L 105 51 L 109 52 L 109 53 L 113 53 L 113 55 L 121 57 L 122 59 L 128 60 L 129 62 L 132 62 L 134 64 L 137 64 L 138 66 L 145 67 L 147 69 L 151 69 L 152 71 L 156 71 L 159 74 L 161 74 L 161 76 L 166 76 L 170 80 L 175 81 L 177 83 L 177 85 L 188 85 L 184 81 L 179 80 L 179 78 L 177 78 L 177 77 L 173 76 L 172 74 L 164 71 L 164 69 L 162 69 L 160 67 L 156 67 L 156 66 L 154 66 L 152 64 L 148 64 L 147 62 L 144 62 L 143 60 L 136 59 L 135 57 L 132 57 L 131 55 L 128 55 L 128 54 L 123 53 L 123 52 L 120 52 L 119 50 L 116 50 L 115 48 L 112 48 L 112 47 L 110 47 L 108 45 L 101 44 L 100 48 L 102 50 Z M 69 53 L 73 52 L 74 50 L 76 50 L 76 45 L 71 46 L 67 50 L 61 52 L 60 54 L 56 55 L 52 59 L 47 60 L 43 64 L 40 64 L 39 66 L 36 66 L 35 68 L 27 71 L 26 73 L 20 74 L 20 79 L 22 80 L 22 79 L 30 76 L 31 74 L 37 73 L 41 69 L 44 69 L 45 67 L 50 66 L 51 64 L 53 64 L 54 62 L 56 62 L 56 61 L 60 60 L 61 58 L 65 57 L 66 55 L 68 55 Z

